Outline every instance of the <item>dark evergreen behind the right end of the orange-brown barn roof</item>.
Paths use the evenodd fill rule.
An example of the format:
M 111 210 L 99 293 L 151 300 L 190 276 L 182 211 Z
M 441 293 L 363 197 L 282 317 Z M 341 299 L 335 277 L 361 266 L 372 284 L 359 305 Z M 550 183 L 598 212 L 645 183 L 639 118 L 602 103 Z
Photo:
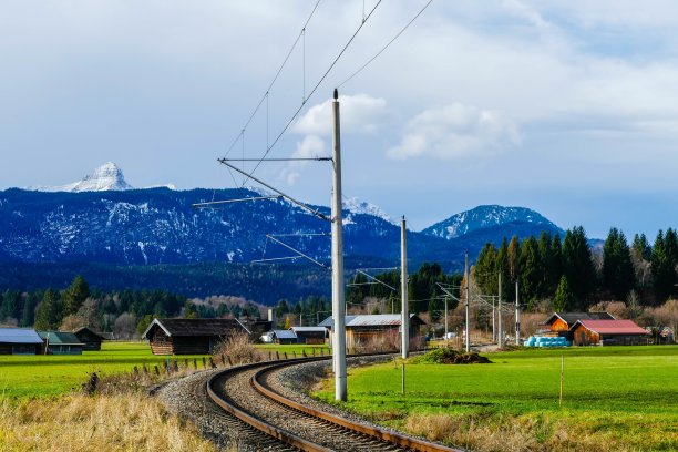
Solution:
M 609 229 L 603 246 L 603 287 L 617 300 L 636 287 L 636 274 L 624 233 L 616 227 Z

